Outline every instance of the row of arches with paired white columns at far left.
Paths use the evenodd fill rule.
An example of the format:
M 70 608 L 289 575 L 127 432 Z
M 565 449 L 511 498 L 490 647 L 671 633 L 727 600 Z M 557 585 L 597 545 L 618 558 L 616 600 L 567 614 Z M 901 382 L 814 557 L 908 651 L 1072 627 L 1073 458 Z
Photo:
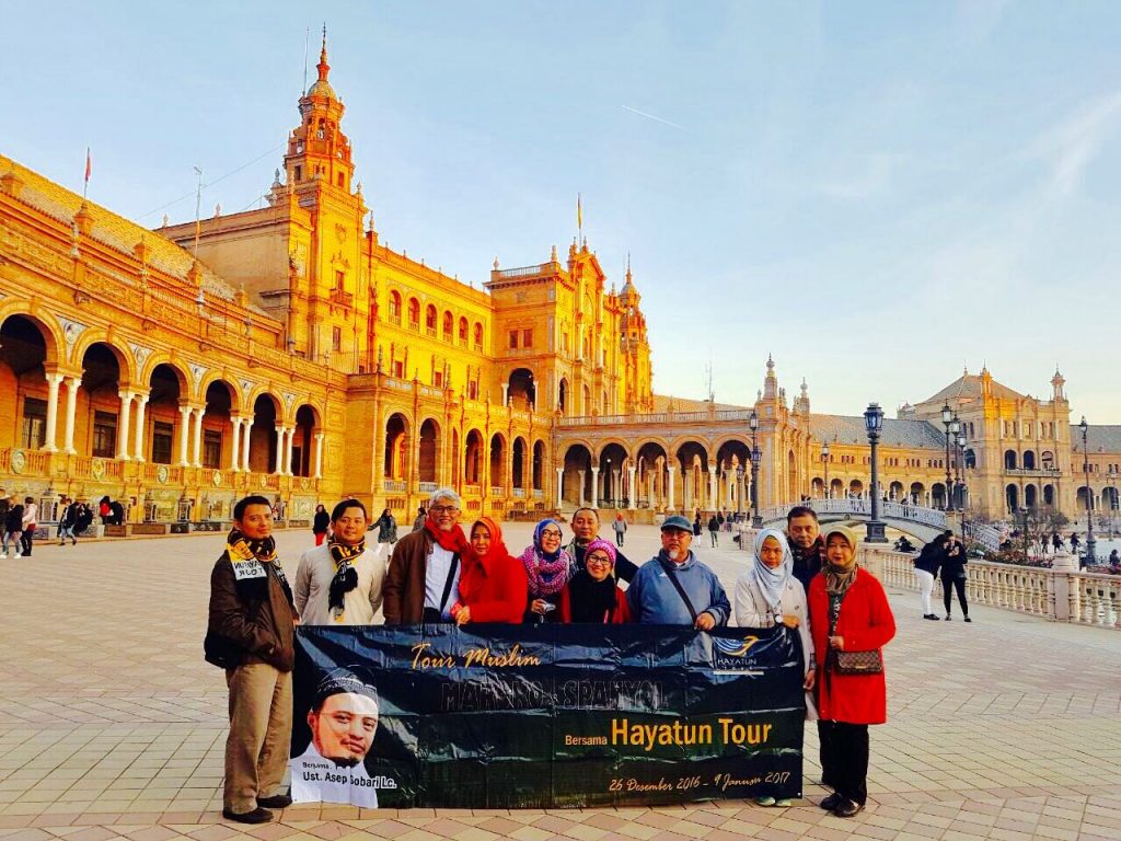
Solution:
M 266 386 L 244 394 L 216 371 L 188 377 L 156 351 L 138 363 L 103 331 L 87 329 L 78 339 L 63 364 L 49 320 L 3 317 L 0 389 L 17 405 L 13 423 L 0 424 L 0 446 L 303 477 L 319 471 L 322 413 L 311 401 L 286 406 Z

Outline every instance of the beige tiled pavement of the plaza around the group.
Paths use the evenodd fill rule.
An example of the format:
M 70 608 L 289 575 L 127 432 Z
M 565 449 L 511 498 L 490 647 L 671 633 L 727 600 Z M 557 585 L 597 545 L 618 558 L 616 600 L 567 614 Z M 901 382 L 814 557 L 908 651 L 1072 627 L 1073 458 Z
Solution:
M 521 546 L 529 526 L 506 532 Z M 634 527 L 626 552 L 641 560 L 656 542 Z M 289 572 L 308 543 L 281 534 Z M 731 588 L 745 556 L 704 544 Z M 216 536 L 46 545 L 31 561 L 0 561 L 0 838 L 1121 841 L 1121 634 L 984 608 L 972 625 L 925 622 L 902 592 L 890 593 L 889 723 L 872 730 L 871 800 L 856 819 L 815 805 L 810 727 L 807 800 L 787 810 L 299 806 L 260 828 L 224 823 L 225 686 L 201 656 L 220 546 Z

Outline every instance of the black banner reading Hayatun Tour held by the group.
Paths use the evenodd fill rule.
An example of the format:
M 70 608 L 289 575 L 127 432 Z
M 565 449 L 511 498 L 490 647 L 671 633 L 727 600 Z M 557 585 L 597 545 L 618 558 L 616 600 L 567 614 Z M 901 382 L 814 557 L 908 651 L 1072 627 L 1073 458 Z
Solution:
M 798 797 L 802 663 L 782 626 L 300 627 L 293 796 L 457 808 Z

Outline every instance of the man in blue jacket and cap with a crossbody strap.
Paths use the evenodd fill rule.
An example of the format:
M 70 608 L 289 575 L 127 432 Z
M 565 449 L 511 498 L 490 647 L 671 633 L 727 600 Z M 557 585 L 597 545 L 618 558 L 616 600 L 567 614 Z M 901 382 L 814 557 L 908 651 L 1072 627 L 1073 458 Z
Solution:
M 728 625 L 732 604 L 716 574 L 689 551 L 693 524 L 680 515 L 661 524 L 661 552 L 639 569 L 627 590 L 631 616 L 642 625 Z

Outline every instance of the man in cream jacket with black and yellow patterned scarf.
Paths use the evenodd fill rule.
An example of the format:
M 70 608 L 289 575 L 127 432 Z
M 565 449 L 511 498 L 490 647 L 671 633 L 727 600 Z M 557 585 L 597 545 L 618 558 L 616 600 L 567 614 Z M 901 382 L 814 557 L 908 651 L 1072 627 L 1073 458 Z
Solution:
M 331 511 L 326 544 L 300 555 L 296 609 L 304 625 L 372 625 L 381 609 L 386 561 L 365 547 L 365 506 L 344 499 Z

